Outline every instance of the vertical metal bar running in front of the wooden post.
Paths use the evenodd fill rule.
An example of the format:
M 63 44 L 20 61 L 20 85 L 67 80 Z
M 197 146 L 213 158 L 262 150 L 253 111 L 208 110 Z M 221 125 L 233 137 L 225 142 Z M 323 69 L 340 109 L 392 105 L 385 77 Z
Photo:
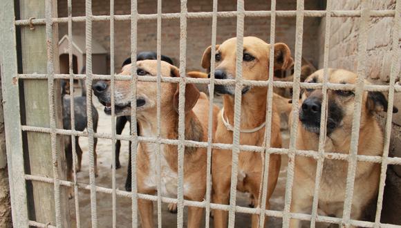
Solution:
M 60 204 L 60 182 L 58 172 L 58 153 L 57 153 L 57 135 L 55 133 L 55 86 L 54 86 L 54 64 L 53 64 L 53 22 L 52 22 L 52 2 L 45 2 L 46 13 L 46 49 L 47 49 L 47 75 L 48 75 L 48 104 L 50 116 L 50 140 L 53 163 L 54 179 L 54 197 L 55 197 L 55 218 L 56 226 L 62 227 L 61 204 Z

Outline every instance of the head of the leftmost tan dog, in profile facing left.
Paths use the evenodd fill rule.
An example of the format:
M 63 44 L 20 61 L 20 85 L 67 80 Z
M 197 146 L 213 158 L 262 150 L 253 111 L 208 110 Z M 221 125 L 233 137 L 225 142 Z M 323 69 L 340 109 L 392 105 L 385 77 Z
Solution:
M 143 60 L 137 61 L 136 74 L 138 76 L 157 75 L 157 61 Z M 120 75 L 130 75 L 132 65 L 128 64 L 122 68 Z M 162 77 L 180 77 L 178 68 L 165 61 L 161 62 L 160 73 Z M 100 103 L 105 108 L 106 114 L 111 114 L 111 88 L 110 82 L 97 81 L 93 84 L 93 91 Z M 178 112 L 178 84 L 162 82 L 160 85 L 160 107 L 162 111 Z M 190 111 L 198 101 L 200 93 L 194 84 L 187 84 L 185 87 L 185 111 Z M 131 84 L 129 81 L 115 81 L 115 115 L 131 115 Z M 157 102 L 157 84 L 156 82 L 137 83 L 136 106 L 138 115 L 155 115 Z

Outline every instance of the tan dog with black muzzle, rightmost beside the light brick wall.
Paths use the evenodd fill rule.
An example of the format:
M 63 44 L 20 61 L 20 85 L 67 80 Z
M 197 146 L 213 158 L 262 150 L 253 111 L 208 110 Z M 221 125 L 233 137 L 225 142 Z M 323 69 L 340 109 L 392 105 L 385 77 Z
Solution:
M 347 70 L 328 70 L 328 82 L 355 84 L 357 75 Z M 306 82 L 323 82 L 323 70 L 310 75 Z M 368 82 L 366 82 L 367 84 Z M 297 149 L 318 150 L 321 113 L 321 90 L 301 91 Z M 351 128 L 354 113 L 353 91 L 328 91 L 326 142 L 324 151 L 346 153 L 350 151 Z M 375 120 L 375 111 L 387 111 L 387 101 L 380 92 L 364 92 L 360 121 L 359 155 L 381 156 L 383 133 Z M 393 112 L 397 112 L 394 108 Z M 291 211 L 311 213 L 315 188 L 316 160 L 297 156 L 292 188 Z M 346 191 L 348 162 L 324 160 L 319 191 L 319 214 L 342 217 Z M 364 208 L 377 197 L 380 164 L 357 162 L 351 219 L 361 219 Z M 300 227 L 299 220 L 291 220 L 290 227 Z

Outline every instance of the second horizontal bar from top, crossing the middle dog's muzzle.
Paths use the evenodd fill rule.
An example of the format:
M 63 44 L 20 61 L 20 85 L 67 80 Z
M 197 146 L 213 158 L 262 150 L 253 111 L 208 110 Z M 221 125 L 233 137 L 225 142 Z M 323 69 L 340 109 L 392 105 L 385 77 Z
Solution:
M 47 79 L 48 75 L 46 74 L 19 74 L 17 76 L 18 79 Z M 67 74 L 55 74 L 55 79 L 70 79 L 71 75 Z M 113 78 L 117 81 L 130 81 L 131 77 L 127 75 L 93 75 L 94 80 L 111 80 Z M 156 77 L 152 76 L 137 76 L 139 82 L 157 82 Z M 86 79 L 86 75 L 73 75 L 74 79 Z M 218 85 L 234 85 L 236 83 L 235 79 L 214 79 L 214 83 Z M 187 83 L 194 83 L 194 84 L 210 84 L 210 79 L 203 79 L 203 78 L 186 78 Z M 170 82 L 170 83 L 179 83 L 180 78 L 177 77 L 161 77 L 161 82 Z M 281 82 L 281 81 L 274 81 L 273 86 L 277 88 L 292 88 L 293 82 Z M 244 86 L 268 86 L 268 81 L 255 81 L 255 80 L 245 80 L 243 79 Z M 301 82 L 300 88 L 313 88 L 319 89 L 322 88 L 322 83 L 307 83 Z M 388 85 L 371 85 L 366 84 L 364 86 L 364 91 L 380 91 L 386 92 L 389 91 Z M 355 90 L 355 85 L 353 84 L 335 84 L 335 83 L 328 83 L 327 88 L 330 90 L 345 90 L 345 91 L 353 91 Z M 394 86 L 395 92 L 401 92 L 401 86 L 396 84 Z

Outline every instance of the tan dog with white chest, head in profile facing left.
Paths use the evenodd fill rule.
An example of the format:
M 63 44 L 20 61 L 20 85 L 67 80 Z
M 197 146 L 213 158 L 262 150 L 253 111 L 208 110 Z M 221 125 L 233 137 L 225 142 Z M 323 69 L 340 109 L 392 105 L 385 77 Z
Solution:
M 163 77 L 180 77 L 175 66 L 161 62 Z M 144 60 L 137 62 L 137 75 L 157 75 L 157 61 Z M 121 75 L 129 75 L 131 64 L 125 66 Z M 104 104 L 106 113 L 110 111 L 110 94 L 108 82 L 94 84 L 95 95 Z M 140 122 L 140 133 L 145 137 L 157 137 L 156 93 L 154 82 L 138 82 L 137 85 L 137 118 Z M 178 139 L 178 84 L 161 84 L 161 120 L 160 136 L 164 139 Z M 130 115 L 131 86 L 127 81 L 115 82 L 115 114 Z M 207 141 L 209 100 L 204 93 L 199 93 L 194 84 L 185 88 L 185 140 Z M 218 108 L 214 106 L 214 115 Z M 214 116 L 216 120 L 216 116 Z M 216 121 L 214 130 L 216 131 Z M 177 146 L 162 144 L 160 146 L 160 171 L 162 196 L 177 195 L 178 150 Z M 136 174 L 138 192 L 155 194 L 157 186 L 156 153 L 157 144 L 140 142 L 137 152 Z M 203 201 L 206 191 L 207 150 L 205 148 L 186 147 L 184 154 L 184 196 L 187 200 Z M 138 200 L 142 227 L 153 227 L 153 202 Z M 203 218 L 203 209 L 188 208 L 188 227 L 199 227 Z

